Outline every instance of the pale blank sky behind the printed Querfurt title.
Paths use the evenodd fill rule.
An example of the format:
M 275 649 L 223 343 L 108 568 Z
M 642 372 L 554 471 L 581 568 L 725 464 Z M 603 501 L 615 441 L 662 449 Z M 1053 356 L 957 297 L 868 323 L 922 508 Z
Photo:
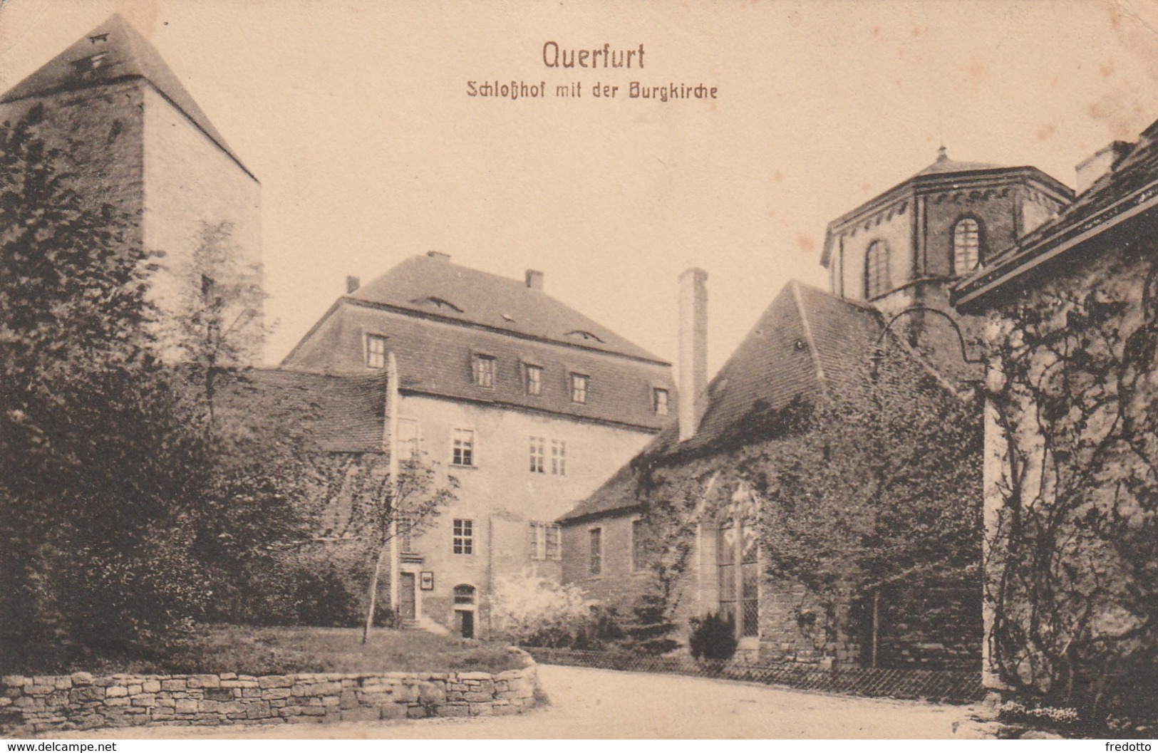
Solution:
M 826 224 L 950 156 L 1073 166 L 1158 119 L 1158 0 L 1058 2 L 0 1 L 0 90 L 119 12 L 262 181 L 267 346 L 441 250 L 676 359 L 676 278 L 709 273 L 710 371 Z M 547 68 L 564 49 L 644 70 Z M 467 81 L 547 81 L 543 100 Z M 630 81 L 716 101 L 628 100 Z M 581 81 L 580 98 L 556 98 Z M 618 85 L 615 100 L 589 96 Z

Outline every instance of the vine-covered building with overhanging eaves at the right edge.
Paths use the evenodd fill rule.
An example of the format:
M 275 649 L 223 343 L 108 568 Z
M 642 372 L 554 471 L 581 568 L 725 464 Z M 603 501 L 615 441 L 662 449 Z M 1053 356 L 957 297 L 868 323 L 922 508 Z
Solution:
M 1028 665 L 1049 656 L 1050 648 L 1056 657 L 1050 636 L 1064 637 L 1060 653 L 1071 687 L 1091 682 L 1101 667 L 1120 660 L 1115 652 L 1128 655 L 1123 646 L 1152 641 L 1136 607 L 1136 594 L 1152 598 L 1153 579 L 1142 575 L 1153 568 L 1152 534 L 1142 534 L 1150 536 L 1144 547 L 1134 541 L 1149 532 L 1142 521 L 1153 514 L 1142 499 L 1153 478 L 1158 122 L 1136 141 L 1112 141 L 1076 168 L 1072 203 L 951 291 L 961 315 L 996 322 L 987 364 L 984 525 L 991 598 L 982 668 L 994 690 L 1007 687 L 1019 661 Z M 1067 357 L 1051 350 L 1056 342 L 1072 349 Z M 1045 387 L 1026 388 L 1027 375 L 1019 372 L 1026 364 L 1034 365 L 1029 374 Z M 1041 378 L 1047 370 L 1064 373 L 1068 383 Z M 1050 520 L 1048 560 L 1027 554 L 1027 546 L 1042 548 L 1041 538 L 1020 533 L 1034 531 L 1035 516 Z M 1010 585 L 1038 583 L 1027 576 L 1035 561 L 1068 573 L 1065 588 L 1047 592 L 1046 604 Z M 1092 572 L 1083 568 L 1087 562 Z M 1102 572 L 1115 573 L 1113 587 L 1090 588 Z M 1079 588 L 1075 606 L 1069 594 Z M 1024 629 L 1028 615 L 1058 627 L 1045 638 L 1026 631 L 1011 642 L 1010 626 Z M 1131 657 L 1127 666 L 1115 679 L 1116 692 L 1146 699 L 1152 665 Z M 1092 686 L 1101 688 L 1100 682 Z

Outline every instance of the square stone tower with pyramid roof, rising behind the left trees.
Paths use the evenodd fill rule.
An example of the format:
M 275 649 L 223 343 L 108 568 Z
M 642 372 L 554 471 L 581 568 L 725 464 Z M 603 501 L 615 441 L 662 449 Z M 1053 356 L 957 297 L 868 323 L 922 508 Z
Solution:
M 219 244 L 228 249 L 228 263 L 218 268 L 261 287 L 261 184 L 153 45 L 120 16 L 0 96 L 0 123 L 34 108 L 43 114 L 41 137 L 60 149 L 60 169 L 75 176 L 82 200 L 133 218 L 131 240 L 162 254 L 149 288 L 162 317 L 178 310 L 192 287 L 225 283 L 195 261 L 208 228 L 223 231 Z M 259 306 L 237 315 L 259 332 Z M 259 360 L 259 336 L 251 350 L 251 360 Z

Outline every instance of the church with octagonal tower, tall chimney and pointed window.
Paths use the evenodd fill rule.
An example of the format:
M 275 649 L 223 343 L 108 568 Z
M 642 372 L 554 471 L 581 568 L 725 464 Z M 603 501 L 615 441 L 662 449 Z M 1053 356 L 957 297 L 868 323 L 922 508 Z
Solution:
M 752 522 L 758 495 L 725 488 L 717 471 L 734 465 L 739 449 L 777 438 L 792 441 L 777 416 L 852 387 L 857 373 L 881 357 L 886 337 L 918 373 L 941 385 L 947 399 L 958 400 L 957 385 L 980 376 L 967 342 L 980 323 L 951 305 L 951 287 L 1072 198 L 1069 188 L 1036 168 L 958 162 L 943 148 L 925 169 L 830 222 L 821 256 L 829 291 L 791 282 L 710 382 L 695 367 L 681 368 L 680 425 L 559 519 L 564 582 L 630 608 L 648 587 L 648 495 L 662 476 L 677 490 L 701 490 L 686 534 L 694 542 L 687 576 L 674 587 L 676 616 L 731 616 L 740 650 L 749 656 L 867 661 L 864 630 L 843 617 L 827 636 L 798 624 L 815 594 L 765 577 Z M 698 270 L 681 277 L 681 366 L 703 364 L 704 279 Z M 698 512 L 713 507 L 724 510 L 723 517 Z M 937 609 L 922 608 L 919 598 L 899 600 L 884 615 L 871 642 L 879 639 L 886 664 L 980 664 L 980 593 L 944 599 Z

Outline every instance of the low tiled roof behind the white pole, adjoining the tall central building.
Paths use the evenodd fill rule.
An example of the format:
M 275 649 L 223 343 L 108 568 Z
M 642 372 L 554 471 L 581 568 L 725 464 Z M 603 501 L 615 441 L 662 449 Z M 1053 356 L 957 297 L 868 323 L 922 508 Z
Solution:
M 255 368 L 219 393 L 219 411 L 243 417 L 262 441 L 307 452 L 382 452 L 386 374 L 330 376 Z

